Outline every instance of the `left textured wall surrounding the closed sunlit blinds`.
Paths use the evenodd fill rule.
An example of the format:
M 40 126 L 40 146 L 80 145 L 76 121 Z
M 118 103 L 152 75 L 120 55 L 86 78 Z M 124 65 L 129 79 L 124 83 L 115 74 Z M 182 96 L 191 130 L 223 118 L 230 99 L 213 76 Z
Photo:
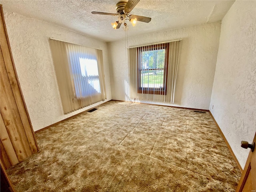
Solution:
M 107 98 L 111 100 L 106 43 L 19 14 L 5 12 L 4 17 L 18 78 L 35 131 L 92 107 L 64 115 L 49 46 L 50 37 L 103 50 Z

